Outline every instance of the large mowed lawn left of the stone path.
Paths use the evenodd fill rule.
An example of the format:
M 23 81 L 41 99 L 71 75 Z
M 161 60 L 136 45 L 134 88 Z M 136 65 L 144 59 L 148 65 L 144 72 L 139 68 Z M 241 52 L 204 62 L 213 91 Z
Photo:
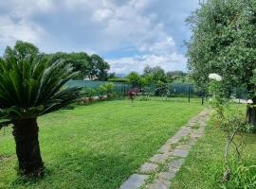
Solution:
M 115 189 L 201 111 L 200 100 L 116 100 L 39 118 L 42 180 L 22 180 L 11 129 L 0 132 L 0 188 Z

